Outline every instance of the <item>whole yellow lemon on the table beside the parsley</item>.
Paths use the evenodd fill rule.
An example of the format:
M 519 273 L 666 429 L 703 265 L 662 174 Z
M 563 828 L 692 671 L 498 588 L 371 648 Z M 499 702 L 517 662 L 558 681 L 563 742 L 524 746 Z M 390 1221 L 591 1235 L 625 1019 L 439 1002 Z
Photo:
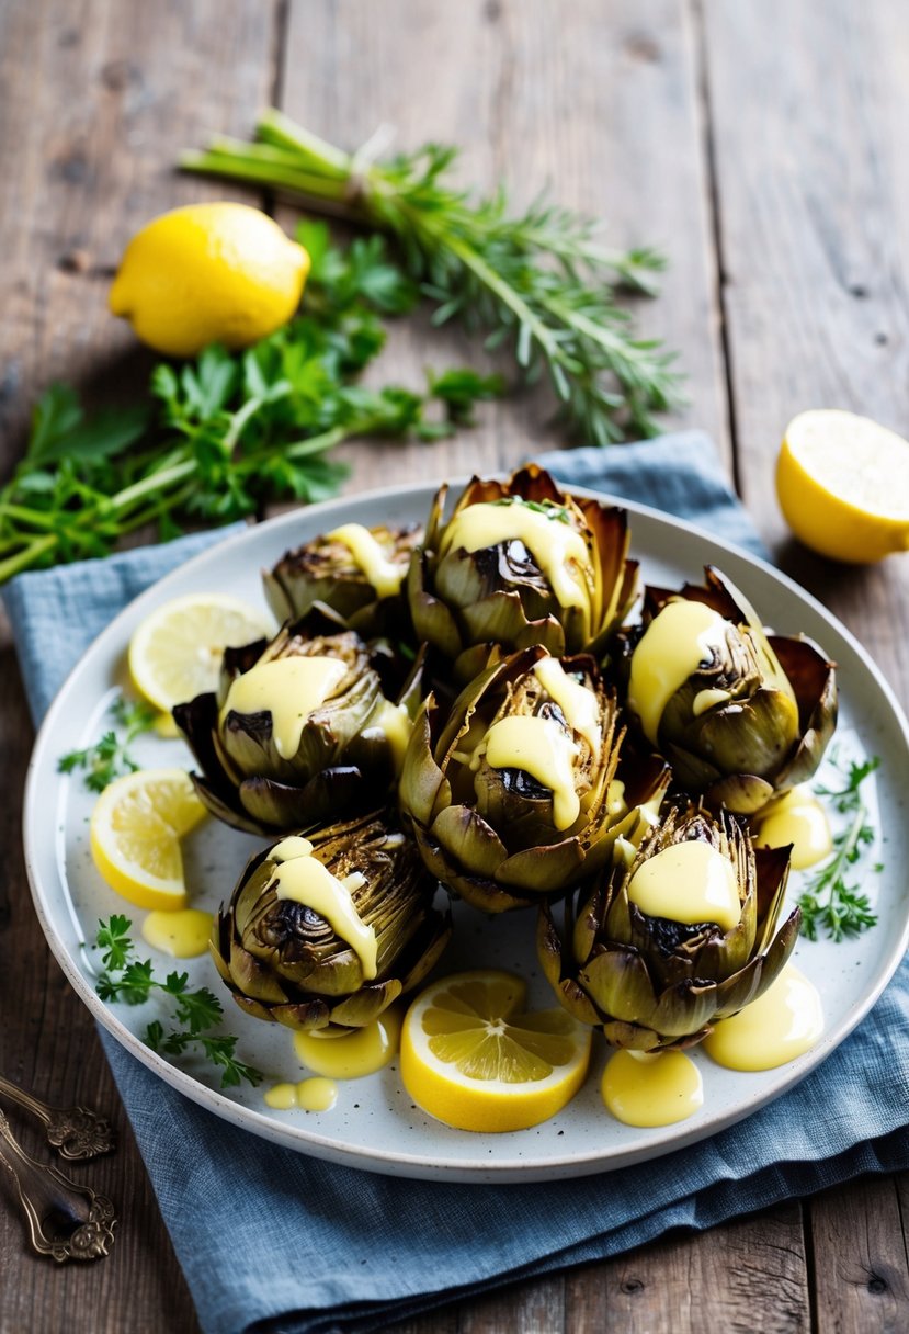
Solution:
M 209 343 L 248 347 L 291 319 L 309 255 L 248 204 L 188 204 L 153 219 L 127 245 L 109 307 L 167 356 Z

